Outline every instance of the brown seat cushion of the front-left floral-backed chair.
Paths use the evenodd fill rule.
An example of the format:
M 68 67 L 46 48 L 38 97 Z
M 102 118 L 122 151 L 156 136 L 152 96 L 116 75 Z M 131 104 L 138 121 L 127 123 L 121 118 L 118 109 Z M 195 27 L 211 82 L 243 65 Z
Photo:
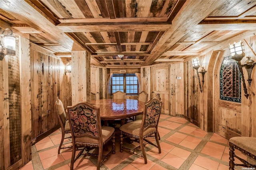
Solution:
M 113 133 L 115 129 L 113 127 L 102 127 L 102 142 L 105 142 Z M 75 142 L 99 144 L 99 140 L 91 138 L 90 136 L 76 137 Z

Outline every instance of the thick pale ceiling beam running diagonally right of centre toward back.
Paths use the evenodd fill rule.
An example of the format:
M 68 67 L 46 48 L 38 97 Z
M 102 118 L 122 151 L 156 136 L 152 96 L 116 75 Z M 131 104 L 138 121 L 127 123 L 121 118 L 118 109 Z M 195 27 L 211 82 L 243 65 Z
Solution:
M 164 33 L 155 48 L 151 51 L 150 56 L 146 58 L 143 66 L 154 63 L 156 59 L 161 57 L 163 53 L 168 51 L 170 47 L 176 44 L 190 30 L 194 30 L 194 26 L 208 17 L 222 3 L 223 1 L 216 0 L 208 0 L 207 3 L 204 3 L 204 0 L 187 0 L 176 15 L 178 17 L 172 20 L 170 28 Z

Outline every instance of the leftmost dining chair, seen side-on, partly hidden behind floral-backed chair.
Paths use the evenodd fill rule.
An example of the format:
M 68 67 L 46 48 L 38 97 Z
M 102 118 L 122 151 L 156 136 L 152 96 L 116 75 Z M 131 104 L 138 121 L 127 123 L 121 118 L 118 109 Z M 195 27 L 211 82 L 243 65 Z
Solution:
M 60 154 L 61 149 L 72 148 L 72 146 L 62 147 L 64 139 L 71 138 L 71 136 L 65 137 L 65 134 L 68 134 L 68 133 L 71 134 L 71 131 L 70 131 L 69 122 L 68 122 L 68 120 L 66 120 L 66 112 L 64 110 L 62 101 L 58 97 L 57 97 L 57 100 L 55 102 L 55 107 L 56 107 L 56 111 L 57 111 L 56 113 L 57 113 L 58 120 L 60 122 L 60 128 L 61 128 L 61 133 L 62 133 L 60 146 L 59 146 L 59 149 L 58 149 L 58 154 Z

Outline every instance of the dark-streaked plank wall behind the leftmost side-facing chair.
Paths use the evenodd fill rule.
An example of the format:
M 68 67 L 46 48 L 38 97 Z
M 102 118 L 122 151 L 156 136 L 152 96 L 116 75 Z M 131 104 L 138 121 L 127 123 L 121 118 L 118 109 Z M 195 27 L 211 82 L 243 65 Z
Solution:
M 46 52 L 39 52 L 36 45 L 31 48 L 32 138 L 59 124 L 55 108 L 57 97 L 63 102 L 64 108 L 71 105 L 71 74 L 65 75 L 64 61 Z

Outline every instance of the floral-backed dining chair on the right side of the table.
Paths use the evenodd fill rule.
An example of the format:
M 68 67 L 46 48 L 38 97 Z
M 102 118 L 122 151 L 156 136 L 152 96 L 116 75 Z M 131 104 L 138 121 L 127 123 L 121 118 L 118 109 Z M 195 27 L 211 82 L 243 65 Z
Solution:
M 137 154 L 144 158 L 144 163 L 147 164 L 147 157 L 145 152 L 145 145 L 151 144 L 158 148 L 158 153 L 161 153 L 161 147 L 158 140 L 158 122 L 160 118 L 160 113 L 162 109 L 162 101 L 156 98 L 151 99 L 145 104 L 145 111 L 143 113 L 142 120 L 133 121 L 126 123 L 120 127 L 120 152 L 126 150 L 132 154 Z M 154 137 L 156 139 L 156 144 L 148 140 L 147 138 Z M 126 148 L 123 146 L 124 136 L 135 138 L 134 141 L 140 143 L 140 146 L 136 148 Z M 141 149 L 142 154 L 138 153 L 136 150 Z

